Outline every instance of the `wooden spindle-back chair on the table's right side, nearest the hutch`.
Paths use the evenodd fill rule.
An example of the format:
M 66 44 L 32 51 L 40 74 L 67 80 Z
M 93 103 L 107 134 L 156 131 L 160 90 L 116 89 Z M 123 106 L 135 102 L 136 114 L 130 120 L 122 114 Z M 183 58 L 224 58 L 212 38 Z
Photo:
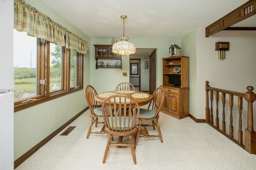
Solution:
M 136 145 L 138 143 L 138 138 L 139 137 L 144 137 L 144 138 L 151 138 L 151 137 L 160 137 L 160 141 L 163 143 L 162 139 L 162 133 L 160 131 L 160 127 L 158 124 L 158 119 L 159 119 L 159 112 L 162 107 L 162 104 L 164 102 L 164 88 L 162 86 L 159 86 L 156 88 L 154 91 L 152 98 L 149 102 L 148 109 L 140 109 L 140 115 L 139 115 L 139 126 L 138 126 L 138 133 L 136 135 Z M 152 125 L 145 125 L 142 124 L 142 121 L 146 120 L 151 120 Z M 146 126 L 153 126 L 153 129 L 155 130 L 155 125 L 158 129 L 158 135 L 149 135 L 148 130 L 146 129 Z M 141 126 L 144 127 L 144 130 L 141 129 Z

